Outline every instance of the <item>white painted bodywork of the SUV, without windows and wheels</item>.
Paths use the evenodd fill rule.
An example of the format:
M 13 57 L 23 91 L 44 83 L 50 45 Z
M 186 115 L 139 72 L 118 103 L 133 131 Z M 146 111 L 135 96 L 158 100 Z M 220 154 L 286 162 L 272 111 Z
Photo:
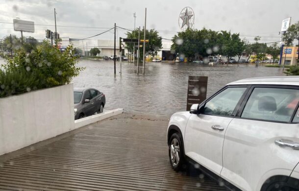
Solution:
M 190 111 L 176 112 L 171 116 L 168 125 L 168 141 L 170 132 L 176 129 L 183 138 L 185 156 L 242 191 L 260 191 L 271 177 L 284 176 L 299 180 L 298 148 L 281 146 L 275 142 L 281 140 L 297 145 L 299 143 L 299 123 L 243 118 L 242 112 L 246 114 L 246 111 L 240 110 L 245 109 L 246 105 L 249 104 L 249 99 L 253 101 L 258 99 L 258 104 L 260 104 L 262 97 L 250 97 L 255 89 L 256 91 L 264 91 L 265 88 L 272 88 L 272 90 L 274 88 L 288 89 L 289 86 L 292 86 L 292 91 L 298 92 L 299 77 L 251 78 L 229 83 L 214 95 L 218 95 L 228 88 L 246 88 L 240 101 L 238 101 L 240 105 L 236 105 L 232 112 L 235 115 L 221 116 L 193 114 Z M 204 106 L 203 103 L 208 103 L 209 100 L 213 99 L 214 95 L 202 102 L 199 108 Z M 299 96 L 298 94 L 294 95 Z M 296 96 L 295 98 L 299 98 Z M 287 100 L 287 98 L 282 99 Z M 293 97 L 289 100 L 293 100 Z M 267 100 L 265 102 L 268 103 Z M 261 102 L 261 104 L 263 103 Z M 290 104 L 287 105 L 287 107 L 289 106 Z M 249 109 L 253 108 L 253 104 L 248 107 Z M 277 113 L 281 108 L 279 104 L 275 107 L 277 109 L 275 112 L 268 112 L 268 110 L 267 112 L 276 117 L 277 114 L 274 113 Z M 287 107 L 285 109 L 289 109 Z M 292 107 L 293 105 L 290 106 L 290 108 Z M 260 109 L 259 105 L 258 109 Z M 299 109 L 296 109 L 298 109 L 298 103 L 296 103 L 292 115 L 294 120 L 295 117 L 299 117 Z M 240 116 L 239 113 L 241 113 Z M 258 114 L 252 114 L 252 116 L 254 115 Z M 218 127 L 221 127 L 222 130 L 218 131 Z

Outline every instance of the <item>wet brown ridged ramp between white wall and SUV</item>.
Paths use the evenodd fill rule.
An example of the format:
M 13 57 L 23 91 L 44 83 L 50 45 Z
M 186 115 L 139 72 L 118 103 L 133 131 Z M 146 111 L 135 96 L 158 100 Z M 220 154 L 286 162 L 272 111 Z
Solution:
M 167 124 L 166 117 L 124 113 L 21 149 L 3 163 L 0 156 L 0 190 L 222 190 L 200 172 L 172 170 Z

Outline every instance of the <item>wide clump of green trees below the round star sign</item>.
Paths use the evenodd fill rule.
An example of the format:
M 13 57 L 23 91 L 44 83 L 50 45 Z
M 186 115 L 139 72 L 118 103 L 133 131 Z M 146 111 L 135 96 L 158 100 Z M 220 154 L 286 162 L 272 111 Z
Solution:
M 173 52 L 183 54 L 188 58 L 226 55 L 229 59 L 232 56 L 241 55 L 245 49 L 245 42 L 241 41 L 239 34 L 206 28 L 201 30 L 188 28 L 174 35 L 172 41 Z

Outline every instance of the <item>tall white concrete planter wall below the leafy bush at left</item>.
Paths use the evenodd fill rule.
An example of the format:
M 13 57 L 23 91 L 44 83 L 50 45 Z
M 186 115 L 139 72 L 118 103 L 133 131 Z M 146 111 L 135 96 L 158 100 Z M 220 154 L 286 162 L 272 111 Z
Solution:
M 73 84 L 0 98 L 0 155 L 75 129 Z

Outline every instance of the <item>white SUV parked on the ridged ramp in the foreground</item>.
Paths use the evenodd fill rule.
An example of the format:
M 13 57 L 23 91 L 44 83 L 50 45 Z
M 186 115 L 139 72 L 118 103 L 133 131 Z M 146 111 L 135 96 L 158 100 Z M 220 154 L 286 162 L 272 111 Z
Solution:
M 299 190 L 299 77 L 232 82 L 172 115 L 170 163 L 184 162 L 243 191 Z

